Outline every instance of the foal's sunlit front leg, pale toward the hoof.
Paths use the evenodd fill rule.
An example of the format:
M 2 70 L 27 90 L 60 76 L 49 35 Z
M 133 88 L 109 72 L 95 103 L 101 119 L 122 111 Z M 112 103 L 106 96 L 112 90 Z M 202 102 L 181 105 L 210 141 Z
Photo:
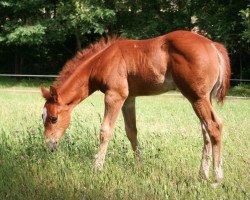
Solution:
M 114 91 L 105 93 L 104 119 L 100 130 L 100 147 L 95 156 L 95 168 L 102 170 L 109 141 L 113 135 L 115 121 L 125 98 Z

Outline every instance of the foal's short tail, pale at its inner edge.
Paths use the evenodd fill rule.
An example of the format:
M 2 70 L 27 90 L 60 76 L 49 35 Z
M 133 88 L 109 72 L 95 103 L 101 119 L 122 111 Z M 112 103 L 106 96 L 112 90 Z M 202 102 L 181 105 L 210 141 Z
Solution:
M 231 75 L 230 60 L 228 57 L 228 52 L 222 44 L 217 42 L 214 42 L 213 44 L 217 49 L 219 63 L 220 63 L 219 80 L 215 84 L 213 90 L 215 91 L 215 95 L 217 97 L 218 102 L 223 103 L 224 98 L 230 86 L 230 75 Z

